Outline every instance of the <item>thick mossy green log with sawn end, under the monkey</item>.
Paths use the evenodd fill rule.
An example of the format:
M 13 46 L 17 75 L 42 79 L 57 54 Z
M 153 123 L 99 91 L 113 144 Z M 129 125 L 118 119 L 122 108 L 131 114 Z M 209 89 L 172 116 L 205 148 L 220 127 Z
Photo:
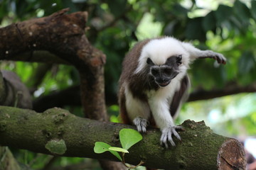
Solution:
M 245 169 L 245 152 L 238 140 L 216 135 L 203 122 L 186 120 L 179 132 L 182 142 L 164 149 L 159 145 L 161 132 L 149 128 L 143 140 L 125 154 L 126 162 L 159 169 Z M 0 107 L 0 145 L 66 157 L 90 157 L 118 161 L 112 154 L 95 154 L 95 142 L 120 146 L 119 130 L 132 125 L 102 123 L 79 118 L 60 108 L 36 113 L 20 108 Z M 60 142 L 62 141 L 62 142 Z M 47 145 L 62 148 L 50 151 Z

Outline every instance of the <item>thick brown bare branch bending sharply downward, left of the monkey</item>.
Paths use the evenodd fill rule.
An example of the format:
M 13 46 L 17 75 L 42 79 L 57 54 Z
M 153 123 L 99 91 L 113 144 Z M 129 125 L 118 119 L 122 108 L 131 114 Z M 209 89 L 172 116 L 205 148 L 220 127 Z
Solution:
M 73 64 L 80 72 L 85 115 L 106 120 L 102 93 L 106 57 L 85 36 L 87 12 L 67 11 L 1 28 L 0 60 Z

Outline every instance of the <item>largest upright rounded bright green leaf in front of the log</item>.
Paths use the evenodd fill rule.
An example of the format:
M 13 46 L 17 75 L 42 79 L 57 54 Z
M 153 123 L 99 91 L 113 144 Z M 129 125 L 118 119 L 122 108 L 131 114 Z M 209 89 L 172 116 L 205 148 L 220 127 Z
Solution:
M 142 135 L 137 130 L 124 128 L 120 130 L 119 138 L 122 147 L 128 150 L 134 144 L 142 140 Z

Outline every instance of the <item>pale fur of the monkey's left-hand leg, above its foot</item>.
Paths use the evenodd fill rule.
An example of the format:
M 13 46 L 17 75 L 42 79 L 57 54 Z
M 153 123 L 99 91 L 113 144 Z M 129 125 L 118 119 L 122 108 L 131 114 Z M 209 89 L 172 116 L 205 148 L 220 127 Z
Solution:
M 142 117 L 148 120 L 150 116 L 149 104 L 138 98 L 134 98 L 131 91 L 129 91 L 127 84 L 124 86 L 124 94 L 126 98 L 125 106 L 127 108 L 129 119 L 134 120 L 134 118 Z

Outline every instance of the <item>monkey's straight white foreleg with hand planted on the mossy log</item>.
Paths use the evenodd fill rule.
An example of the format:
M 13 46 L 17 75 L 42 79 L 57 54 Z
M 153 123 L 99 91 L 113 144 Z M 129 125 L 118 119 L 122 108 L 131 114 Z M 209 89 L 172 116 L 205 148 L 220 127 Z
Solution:
M 170 142 L 172 146 L 175 146 L 172 135 L 177 137 L 178 140 L 181 140 L 181 137 L 178 135 L 176 130 L 181 130 L 182 127 L 174 124 L 174 120 L 169 112 L 169 105 L 166 101 L 161 100 L 149 101 L 149 105 L 156 125 L 161 129 L 162 132 L 160 138 L 161 145 L 165 145 L 167 148 L 168 142 Z

